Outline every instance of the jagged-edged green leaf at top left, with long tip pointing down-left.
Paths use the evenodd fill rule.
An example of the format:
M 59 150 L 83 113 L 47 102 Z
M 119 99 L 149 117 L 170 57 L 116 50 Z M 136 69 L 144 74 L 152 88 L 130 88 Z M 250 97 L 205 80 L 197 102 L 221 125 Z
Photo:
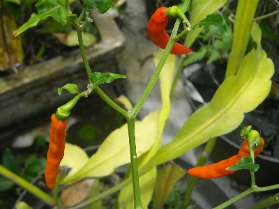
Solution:
M 58 0 L 41 0 L 38 3 L 38 15 L 32 14 L 30 19 L 23 24 L 20 29 L 14 32 L 14 35 L 17 36 L 23 31 L 36 26 L 40 20 L 45 20 L 47 17 L 53 17 L 54 20 L 59 22 L 61 25 L 67 23 L 69 19 L 77 19 L 77 15 L 73 15 L 63 7 L 63 5 Z

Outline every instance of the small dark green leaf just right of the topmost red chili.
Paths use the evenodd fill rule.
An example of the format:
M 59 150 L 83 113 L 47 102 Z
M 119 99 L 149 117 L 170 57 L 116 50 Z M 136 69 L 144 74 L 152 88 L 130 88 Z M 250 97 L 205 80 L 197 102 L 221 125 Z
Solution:
M 229 30 L 227 29 L 227 23 L 225 22 L 223 15 L 207 15 L 206 18 L 201 20 L 198 25 L 199 27 L 204 26 L 206 28 L 213 25 L 220 33 L 223 33 L 225 36 L 229 36 Z

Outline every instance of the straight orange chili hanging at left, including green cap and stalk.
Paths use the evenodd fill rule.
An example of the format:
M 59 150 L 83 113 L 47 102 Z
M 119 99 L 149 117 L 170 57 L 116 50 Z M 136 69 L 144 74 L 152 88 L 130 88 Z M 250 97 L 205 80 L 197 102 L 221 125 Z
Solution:
M 75 104 L 81 96 L 82 94 L 75 96 L 73 100 L 57 108 L 56 113 L 52 114 L 50 145 L 47 151 L 47 163 L 45 166 L 45 182 L 50 189 L 54 189 L 56 176 L 59 172 L 59 164 L 64 156 L 67 127 L 66 119 L 70 116 L 70 110 L 75 107 Z

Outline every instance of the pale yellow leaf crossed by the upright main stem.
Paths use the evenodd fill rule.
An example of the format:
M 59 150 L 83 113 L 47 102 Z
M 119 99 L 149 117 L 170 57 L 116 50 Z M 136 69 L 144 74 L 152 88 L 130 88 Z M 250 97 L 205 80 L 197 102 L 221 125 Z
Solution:
M 148 151 L 158 135 L 158 114 L 153 111 L 142 121 L 135 122 L 137 157 Z M 114 169 L 130 162 L 130 148 L 127 124 L 114 130 L 105 139 L 95 155 L 84 164 L 82 169 L 71 178 L 66 177 L 63 183 L 85 177 L 102 177 L 110 175 Z

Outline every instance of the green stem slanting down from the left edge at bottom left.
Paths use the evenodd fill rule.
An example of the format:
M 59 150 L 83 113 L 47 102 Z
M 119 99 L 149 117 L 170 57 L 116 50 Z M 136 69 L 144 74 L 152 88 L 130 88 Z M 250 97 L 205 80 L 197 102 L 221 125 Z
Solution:
M 42 201 L 47 203 L 47 205 L 54 206 L 54 199 L 52 198 L 52 196 L 43 192 L 41 189 L 39 189 L 35 185 L 32 185 L 24 178 L 17 176 L 17 174 L 13 173 L 12 171 L 9 171 L 5 167 L 3 167 L 1 164 L 0 164 L 0 174 L 10 180 L 13 180 L 13 182 L 17 183 L 17 185 L 24 187 L 24 189 L 27 189 L 28 192 L 30 192 L 34 196 L 37 196 L 39 199 L 41 199 Z

